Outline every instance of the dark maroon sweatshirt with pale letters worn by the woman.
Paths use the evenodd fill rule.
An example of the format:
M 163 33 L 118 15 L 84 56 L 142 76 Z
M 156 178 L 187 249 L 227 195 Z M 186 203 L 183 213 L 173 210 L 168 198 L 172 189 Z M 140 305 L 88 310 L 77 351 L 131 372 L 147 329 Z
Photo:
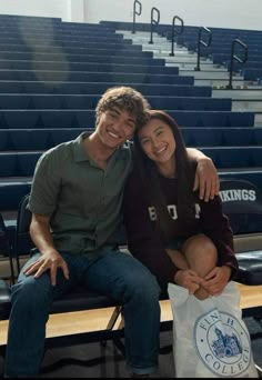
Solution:
M 222 212 L 220 197 L 209 202 L 196 200 L 195 214 L 181 218 L 177 210 L 178 180 L 159 176 L 162 192 L 172 216 L 172 237 L 162 236 L 157 228 L 154 208 L 148 207 L 141 181 L 135 170 L 125 184 L 123 199 L 124 224 L 128 246 L 131 253 L 145 264 L 157 277 L 161 286 L 174 282 L 178 269 L 165 253 L 178 240 L 188 239 L 198 233 L 209 237 L 218 249 L 218 266 L 232 268 L 232 276 L 238 269 L 233 248 L 233 233 L 228 217 Z

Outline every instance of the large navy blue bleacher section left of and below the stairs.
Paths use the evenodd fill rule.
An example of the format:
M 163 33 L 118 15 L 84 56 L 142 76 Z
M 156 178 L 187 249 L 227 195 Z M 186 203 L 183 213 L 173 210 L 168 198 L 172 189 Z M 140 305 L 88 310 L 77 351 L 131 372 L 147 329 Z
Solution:
M 98 99 L 115 84 L 132 86 L 152 108 L 169 111 L 187 146 L 211 157 L 221 179 L 250 180 L 262 191 L 262 128 L 255 112 L 233 111 L 231 98 L 212 97 L 212 87 L 196 86 L 193 72 L 181 74 L 179 66 L 144 51 L 122 32 L 131 23 L 12 16 L 0 16 L 0 212 L 10 239 L 40 154 L 92 130 Z M 149 26 L 137 24 L 137 30 L 148 32 Z M 167 26 L 159 28 L 161 37 L 169 32 Z M 195 33 L 198 28 L 188 27 L 177 46 L 193 51 Z M 218 36 L 224 34 L 220 30 Z M 224 52 L 206 54 L 228 64 Z

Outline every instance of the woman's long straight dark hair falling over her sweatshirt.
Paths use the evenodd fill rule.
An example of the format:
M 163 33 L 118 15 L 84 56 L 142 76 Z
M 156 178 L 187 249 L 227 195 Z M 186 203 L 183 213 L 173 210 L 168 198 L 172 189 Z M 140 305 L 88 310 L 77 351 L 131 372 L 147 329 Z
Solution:
M 160 110 L 149 110 L 148 119 L 150 120 L 161 120 L 167 123 L 174 136 L 175 140 L 175 177 L 178 177 L 178 214 L 180 220 L 187 216 L 187 219 L 192 212 L 194 213 L 194 208 L 192 206 L 195 202 L 195 196 L 192 191 L 195 164 L 190 162 L 188 157 L 188 151 L 175 121 L 164 111 Z M 140 174 L 140 179 L 144 189 L 145 199 L 148 200 L 148 206 L 154 206 L 158 214 L 158 226 L 165 237 L 172 234 L 171 217 L 167 208 L 167 200 L 161 191 L 160 186 L 160 173 L 157 164 L 148 158 L 143 152 L 140 141 L 139 131 L 143 126 L 138 127 L 135 130 L 133 142 L 134 142 L 134 162 L 137 170 Z

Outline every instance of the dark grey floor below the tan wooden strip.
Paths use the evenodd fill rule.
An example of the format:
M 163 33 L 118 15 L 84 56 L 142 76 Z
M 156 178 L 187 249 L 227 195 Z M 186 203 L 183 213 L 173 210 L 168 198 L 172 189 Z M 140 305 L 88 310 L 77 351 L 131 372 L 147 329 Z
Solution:
M 246 318 L 254 361 L 262 367 L 262 320 Z M 161 347 L 172 343 L 172 332 L 161 332 Z M 90 364 L 90 360 L 92 366 Z M 48 371 L 48 372 L 47 372 Z M 41 378 L 129 378 L 124 357 L 109 341 L 105 347 L 88 343 L 63 349 L 50 349 L 43 361 Z M 152 378 L 173 378 L 173 354 L 160 354 L 158 373 Z

